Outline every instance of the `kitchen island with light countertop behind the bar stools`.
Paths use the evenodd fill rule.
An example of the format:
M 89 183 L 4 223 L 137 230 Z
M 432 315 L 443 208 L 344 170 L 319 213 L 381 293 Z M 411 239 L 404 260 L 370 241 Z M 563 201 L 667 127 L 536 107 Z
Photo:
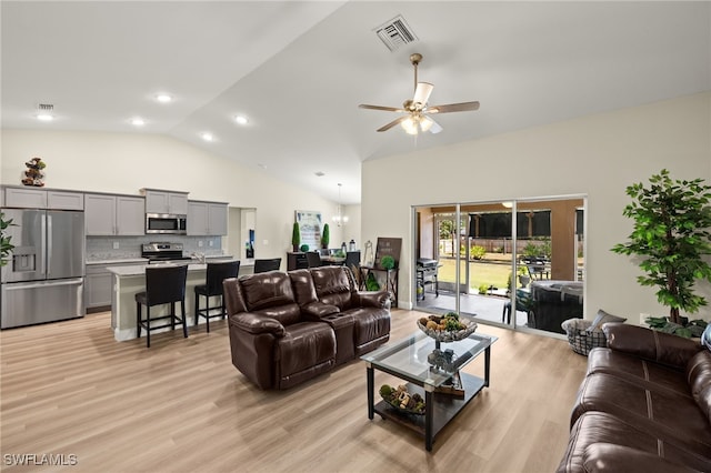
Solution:
M 210 259 L 210 261 L 222 261 Z M 224 260 L 229 261 L 229 260 Z M 181 263 L 160 263 L 181 264 Z M 184 263 L 183 263 L 184 264 Z M 113 293 L 111 298 L 111 329 L 113 338 L 121 342 L 136 339 L 136 294 L 146 291 L 146 266 L 148 264 L 133 264 L 126 266 L 111 266 Z M 156 264 L 152 264 L 156 265 Z M 186 315 L 188 329 L 193 326 L 196 285 L 204 284 L 208 265 L 202 263 L 188 263 L 188 280 L 186 281 Z M 240 276 L 251 274 L 254 268 L 254 260 L 240 260 Z M 214 302 L 217 304 L 217 302 Z M 151 313 L 162 315 L 168 313 L 169 305 L 151 308 Z M 180 304 L 176 304 L 176 311 L 180 312 Z M 200 319 L 199 323 L 204 323 Z M 166 329 L 168 330 L 168 329 Z

